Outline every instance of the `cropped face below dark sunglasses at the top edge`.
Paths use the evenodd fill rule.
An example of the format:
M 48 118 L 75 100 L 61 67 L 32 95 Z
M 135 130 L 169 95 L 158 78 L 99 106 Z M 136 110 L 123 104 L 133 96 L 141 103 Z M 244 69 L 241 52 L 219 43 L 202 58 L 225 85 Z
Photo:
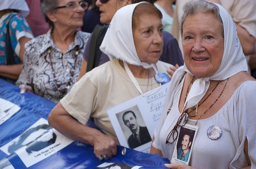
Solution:
M 106 3 L 96 1 L 96 6 L 100 9 L 100 22 L 102 24 L 110 24 L 116 11 L 126 5 L 126 0 L 108 0 Z

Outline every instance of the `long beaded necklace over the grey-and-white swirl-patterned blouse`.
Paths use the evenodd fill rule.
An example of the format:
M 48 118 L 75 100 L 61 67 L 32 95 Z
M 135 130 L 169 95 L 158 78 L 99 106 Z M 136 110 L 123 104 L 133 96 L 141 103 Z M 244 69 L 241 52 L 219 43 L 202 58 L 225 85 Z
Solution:
M 51 64 L 52 73 L 53 73 L 53 80 L 54 80 L 54 82 L 55 82 L 55 84 L 56 84 L 56 87 L 57 87 L 58 91 L 59 91 L 60 93 L 62 93 L 63 95 L 65 95 L 65 94 L 67 93 L 68 89 L 70 89 L 70 83 L 71 83 L 71 81 L 72 81 L 72 79 L 73 79 L 73 77 L 74 77 L 76 61 L 77 61 L 78 54 L 79 54 L 79 51 L 78 51 L 78 50 L 79 50 L 79 48 L 76 47 L 74 67 L 71 68 L 70 70 L 69 70 L 69 69 L 66 69 L 67 72 L 68 72 L 68 71 L 70 72 L 70 76 L 67 77 L 68 82 L 66 83 L 64 89 L 60 89 L 60 85 L 61 85 L 61 84 L 58 84 L 58 82 L 57 82 L 56 75 L 55 75 L 55 71 L 54 71 L 54 68 L 53 68 L 53 65 L 52 65 L 52 58 L 51 58 L 51 55 L 50 55 L 51 50 L 48 49 L 48 55 L 49 55 L 49 58 L 50 58 L 50 64 Z M 67 66 L 67 65 L 68 65 L 68 63 L 65 62 L 65 66 Z

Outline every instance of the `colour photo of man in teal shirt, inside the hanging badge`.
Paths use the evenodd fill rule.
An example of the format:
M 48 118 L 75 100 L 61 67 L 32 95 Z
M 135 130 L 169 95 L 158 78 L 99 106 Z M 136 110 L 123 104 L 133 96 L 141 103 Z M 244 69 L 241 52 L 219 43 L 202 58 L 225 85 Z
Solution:
M 180 128 L 180 133 L 176 147 L 177 159 L 188 162 L 195 132 L 195 130 L 188 129 L 185 127 Z

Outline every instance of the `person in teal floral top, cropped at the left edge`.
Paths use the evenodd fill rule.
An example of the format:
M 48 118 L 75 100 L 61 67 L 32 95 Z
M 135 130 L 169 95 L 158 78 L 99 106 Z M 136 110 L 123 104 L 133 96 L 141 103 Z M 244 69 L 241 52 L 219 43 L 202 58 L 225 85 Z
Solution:
M 0 78 L 17 80 L 23 62 L 25 43 L 33 38 L 25 18 L 29 8 L 25 0 L 0 3 Z

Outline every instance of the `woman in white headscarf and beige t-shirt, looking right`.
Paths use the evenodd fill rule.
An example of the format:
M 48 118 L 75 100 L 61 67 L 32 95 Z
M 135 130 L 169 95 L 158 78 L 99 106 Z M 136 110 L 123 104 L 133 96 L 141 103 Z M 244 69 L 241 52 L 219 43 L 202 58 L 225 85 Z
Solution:
M 118 139 L 106 110 L 167 80 L 167 74 L 157 78 L 170 66 L 158 61 L 163 50 L 161 18 L 161 12 L 146 2 L 120 8 L 100 47 L 111 61 L 86 73 L 48 116 L 49 124 L 62 134 L 93 145 L 100 160 L 117 153 Z M 104 133 L 86 126 L 90 117 Z

